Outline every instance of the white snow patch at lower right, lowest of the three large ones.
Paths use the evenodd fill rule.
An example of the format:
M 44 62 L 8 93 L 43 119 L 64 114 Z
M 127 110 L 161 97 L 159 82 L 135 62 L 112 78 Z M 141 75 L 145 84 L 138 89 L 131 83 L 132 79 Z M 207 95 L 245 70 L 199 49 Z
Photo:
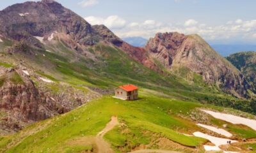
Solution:
M 197 137 L 200 137 L 200 138 L 205 138 L 205 139 L 209 140 L 210 142 L 212 142 L 217 147 L 219 147 L 220 145 L 226 145 L 228 141 L 230 141 L 231 143 L 237 142 L 235 140 L 210 136 L 210 135 L 207 135 L 207 134 L 204 134 L 204 133 L 201 133 L 201 132 L 195 132 L 195 133 L 193 133 L 193 135 L 197 136 Z

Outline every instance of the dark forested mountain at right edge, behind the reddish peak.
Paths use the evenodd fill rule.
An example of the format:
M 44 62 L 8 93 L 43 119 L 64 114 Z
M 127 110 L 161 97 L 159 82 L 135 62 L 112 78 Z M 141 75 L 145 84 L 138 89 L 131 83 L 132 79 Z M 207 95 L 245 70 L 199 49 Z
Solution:
M 229 55 L 227 60 L 250 80 L 254 88 L 256 87 L 256 52 L 239 52 Z

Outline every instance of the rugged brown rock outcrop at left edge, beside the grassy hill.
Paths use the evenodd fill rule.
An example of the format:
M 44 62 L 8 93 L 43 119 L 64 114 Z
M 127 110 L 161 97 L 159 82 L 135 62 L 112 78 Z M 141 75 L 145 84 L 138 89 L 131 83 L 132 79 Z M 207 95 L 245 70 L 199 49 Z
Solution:
M 0 108 L 7 113 L 2 118 L 0 116 L 0 129 L 17 131 L 30 122 L 68 112 L 99 96 L 74 90 L 63 87 L 60 94 L 52 94 L 41 85 L 35 87 L 20 70 L 0 66 Z

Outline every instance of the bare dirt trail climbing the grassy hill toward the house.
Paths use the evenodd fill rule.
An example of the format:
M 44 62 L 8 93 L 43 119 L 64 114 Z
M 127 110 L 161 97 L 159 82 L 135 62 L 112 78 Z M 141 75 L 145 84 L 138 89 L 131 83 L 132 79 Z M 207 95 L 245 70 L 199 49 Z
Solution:
M 111 145 L 109 145 L 109 143 L 104 140 L 103 136 L 111 131 L 111 129 L 115 128 L 115 126 L 118 124 L 119 123 L 117 117 L 111 117 L 111 121 L 108 122 L 106 127 L 102 129 L 102 131 L 100 131 L 97 136 L 95 136 L 95 143 L 99 153 L 114 153 L 114 151 L 111 149 Z

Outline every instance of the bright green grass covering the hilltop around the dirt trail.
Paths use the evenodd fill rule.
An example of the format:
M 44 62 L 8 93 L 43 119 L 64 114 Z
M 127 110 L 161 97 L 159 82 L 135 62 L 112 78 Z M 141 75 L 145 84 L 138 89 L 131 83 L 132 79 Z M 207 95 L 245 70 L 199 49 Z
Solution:
M 123 145 L 125 140 L 133 142 L 134 146 L 143 142 L 148 143 L 150 136 L 143 135 L 144 131 L 158 133 L 174 142 L 190 147 L 196 147 L 204 143 L 205 140 L 201 138 L 177 133 L 177 128 L 196 128 L 192 122 L 184 122 L 184 120 L 178 117 L 168 115 L 166 110 L 173 110 L 172 112 L 175 114 L 174 104 L 177 102 L 164 98 L 157 100 L 156 97 L 147 95 L 141 96 L 140 100 L 133 102 L 120 101 L 106 96 L 65 115 L 54 117 L 51 119 L 49 126 L 24 138 L 24 140 L 13 145 L 6 152 L 40 152 L 41 150 L 43 152 L 50 152 L 47 150 L 48 148 L 51 149 L 51 152 L 54 152 L 54 150 L 60 149 L 63 143 L 72 140 L 72 138 L 96 135 L 106 126 L 112 115 L 117 115 L 118 119 L 127 125 L 133 136 L 120 136 L 115 130 L 112 131 L 113 135 L 107 135 L 107 140 L 113 143 L 114 146 Z M 179 101 L 179 103 L 180 105 L 188 104 L 188 107 L 183 109 L 184 112 L 190 111 L 196 106 L 196 104 L 188 102 Z M 164 108 L 157 106 L 163 106 Z M 24 131 L 27 130 L 31 129 L 25 129 Z M 8 144 L 21 134 L 13 135 L 10 140 L 4 138 L 0 141 L 0 144 L 6 142 Z M 4 145 L 2 147 L 4 148 Z

